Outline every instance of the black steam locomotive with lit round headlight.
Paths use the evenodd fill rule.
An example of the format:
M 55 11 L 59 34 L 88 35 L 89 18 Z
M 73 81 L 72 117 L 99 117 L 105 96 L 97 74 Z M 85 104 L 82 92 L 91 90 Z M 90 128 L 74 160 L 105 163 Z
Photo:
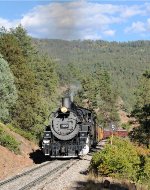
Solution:
M 42 150 L 50 157 L 78 157 L 87 154 L 96 139 L 93 113 L 66 97 L 45 128 Z

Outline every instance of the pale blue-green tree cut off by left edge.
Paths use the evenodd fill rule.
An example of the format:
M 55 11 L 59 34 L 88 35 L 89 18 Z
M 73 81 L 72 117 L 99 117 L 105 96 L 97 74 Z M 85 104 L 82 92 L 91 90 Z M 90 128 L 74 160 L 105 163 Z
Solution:
M 17 100 L 17 91 L 14 76 L 8 63 L 0 55 L 0 120 L 10 120 L 10 109 Z

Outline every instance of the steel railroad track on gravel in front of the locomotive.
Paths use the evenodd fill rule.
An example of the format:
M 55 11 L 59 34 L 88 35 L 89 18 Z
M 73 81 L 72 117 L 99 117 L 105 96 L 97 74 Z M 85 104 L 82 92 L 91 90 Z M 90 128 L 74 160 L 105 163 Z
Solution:
M 1 190 L 29 190 L 32 187 L 35 188 L 45 181 L 48 177 L 52 177 L 51 180 L 55 180 L 55 174 L 63 173 L 78 160 L 67 160 L 67 161 L 51 161 L 42 164 L 36 168 L 26 171 L 22 174 L 16 175 L 8 180 L 0 182 Z

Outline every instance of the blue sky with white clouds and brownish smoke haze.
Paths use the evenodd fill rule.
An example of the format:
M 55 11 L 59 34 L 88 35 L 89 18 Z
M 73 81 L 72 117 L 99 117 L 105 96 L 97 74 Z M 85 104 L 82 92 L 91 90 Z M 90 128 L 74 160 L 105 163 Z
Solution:
M 36 38 L 150 40 L 150 0 L 0 0 L 0 27 Z

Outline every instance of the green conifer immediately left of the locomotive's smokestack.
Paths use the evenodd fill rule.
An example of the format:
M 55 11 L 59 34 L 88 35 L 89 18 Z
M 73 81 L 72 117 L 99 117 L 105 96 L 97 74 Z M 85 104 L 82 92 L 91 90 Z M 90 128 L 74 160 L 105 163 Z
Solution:
M 56 73 L 56 64 L 48 56 L 37 56 L 32 63 L 33 71 L 36 73 L 36 81 L 40 88 L 40 96 L 44 104 L 45 120 L 56 107 L 58 98 L 59 78 Z

